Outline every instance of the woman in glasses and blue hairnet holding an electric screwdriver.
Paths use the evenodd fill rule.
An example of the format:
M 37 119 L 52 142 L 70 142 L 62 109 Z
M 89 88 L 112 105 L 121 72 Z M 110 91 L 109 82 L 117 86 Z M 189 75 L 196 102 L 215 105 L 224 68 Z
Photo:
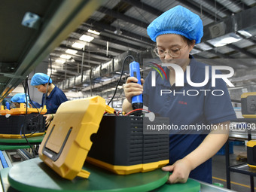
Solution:
M 209 82 L 203 87 L 192 87 L 187 82 L 187 66 L 190 66 L 190 81 L 205 80 L 206 64 L 198 62 L 190 51 L 200 43 L 203 36 L 203 22 L 197 14 L 176 6 L 157 17 L 148 26 L 148 35 L 156 41 L 155 53 L 163 63 L 175 63 L 184 72 L 184 87 L 175 86 L 175 70 L 171 66 L 163 67 L 167 79 L 156 75 L 155 87 L 151 86 L 151 73 L 142 79 L 143 87 L 136 78 L 127 78 L 124 85 L 126 99 L 123 111 L 133 110 L 131 98 L 143 93 L 143 103 L 149 111 L 169 117 L 170 123 L 178 127 L 184 125 L 212 125 L 217 130 L 207 134 L 171 134 L 169 135 L 169 166 L 162 169 L 172 172 L 169 183 L 184 183 L 187 178 L 212 183 L 211 157 L 218 152 L 228 138 L 230 120 L 236 119 L 227 86 L 222 79 L 216 79 L 212 87 L 212 69 L 209 66 Z M 178 76 L 178 75 L 177 75 Z M 180 79 L 179 79 L 180 80 Z M 160 94 L 160 90 L 171 90 L 172 94 Z M 191 96 L 187 90 L 197 90 L 197 96 Z M 200 90 L 211 90 L 200 92 Z M 223 90 L 222 96 L 212 95 L 212 90 Z M 173 92 L 177 94 L 173 94 Z M 221 127 L 227 128 L 221 130 Z

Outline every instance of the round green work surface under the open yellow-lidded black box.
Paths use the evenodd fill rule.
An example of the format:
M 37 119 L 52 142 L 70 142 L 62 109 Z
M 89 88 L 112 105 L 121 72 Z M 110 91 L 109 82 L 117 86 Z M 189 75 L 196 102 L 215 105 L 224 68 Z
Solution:
M 8 181 L 21 191 L 148 191 L 166 183 L 169 173 L 156 169 L 152 172 L 116 175 L 105 169 L 84 164 L 90 177 L 76 177 L 72 181 L 61 178 L 39 158 L 26 160 L 11 167 Z M 1 175 L 4 176 L 4 175 Z

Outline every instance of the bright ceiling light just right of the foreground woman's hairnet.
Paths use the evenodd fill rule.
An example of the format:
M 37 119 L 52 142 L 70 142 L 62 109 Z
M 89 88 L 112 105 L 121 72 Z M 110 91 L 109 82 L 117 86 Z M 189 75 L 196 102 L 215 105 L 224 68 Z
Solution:
M 242 38 L 240 38 L 238 35 L 236 35 L 234 33 L 230 33 L 230 34 L 218 37 L 218 38 L 211 39 L 208 42 L 215 47 L 222 47 L 226 44 L 232 44 L 237 41 L 240 41 L 241 39 Z

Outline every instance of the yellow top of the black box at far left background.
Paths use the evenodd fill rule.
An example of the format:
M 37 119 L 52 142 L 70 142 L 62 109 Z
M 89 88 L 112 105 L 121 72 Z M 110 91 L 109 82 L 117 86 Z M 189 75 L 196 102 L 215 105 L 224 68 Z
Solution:
M 4 109 L 4 106 L 1 105 L 0 108 L 0 115 L 5 115 L 5 114 L 11 114 L 11 115 L 18 115 L 18 114 L 31 114 L 31 113 L 37 113 L 38 111 L 40 112 L 40 114 L 45 114 L 47 112 L 47 108 L 44 105 L 44 108 L 28 108 L 26 110 L 26 104 L 21 103 L 20 108 L 11 108 L 10 110 L 8 109 Z

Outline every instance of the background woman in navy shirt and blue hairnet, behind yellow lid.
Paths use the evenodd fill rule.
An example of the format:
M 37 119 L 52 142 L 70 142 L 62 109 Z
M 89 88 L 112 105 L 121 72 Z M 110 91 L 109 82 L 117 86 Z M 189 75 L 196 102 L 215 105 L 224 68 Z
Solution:
M 44 73 L 35 73 L 31 79 L 31 85 L 41 93 L 44 93 L 41 99 L 41 105 L 44 105 L 45 100 L 47 108 L 47 112 L 44 115 L 46 117 L 46 126 L 50 124 L 50 120 L 53 119 L 53 115 L 56 113 L 59 105 L 68 100 L 65 93 L 52 84 L 52 82 L 52 79 Z

